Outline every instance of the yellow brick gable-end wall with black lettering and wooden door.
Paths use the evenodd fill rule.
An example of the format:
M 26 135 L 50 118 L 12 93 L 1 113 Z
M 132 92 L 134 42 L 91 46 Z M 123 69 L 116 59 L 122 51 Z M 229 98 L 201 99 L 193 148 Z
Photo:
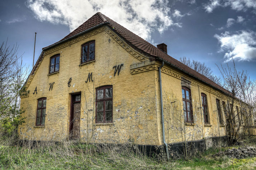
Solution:
M 80 65 L 81 45 L 90 40 L 95 40 L 95 61 Z M 49 58 L 55 54 L 60 54 L 60 71 L 48 75 Z M 147 56 L 131 48 L 107 26 L 45 51 L 43 60 L 28 81 L 29 95 L 21 99 L 23 116 L 27 118 L 19 127 L 20 138 L 66 140 L 71 94 L 81 92 L 80 134 L 83 141 L 159 145 L 154 71 L 132 74 L 131 69 L 148 61 Z M 119 75 L 114 76 L 113 66 L 121 64 Z M 94 81 L 86 83 L 89 73 Z M 71 86 L 68 87 L 70 77 Z M 113 85 L 113 123 L 95 124 L 95 119 L 92 120 L 95 95 L 91 92 L 103 85 Z M 37 94 L 33 94 L 35 87 Z M 37 127 L 37 101 L 41 97 L 47 98 L 46 120 L 44 126 Z

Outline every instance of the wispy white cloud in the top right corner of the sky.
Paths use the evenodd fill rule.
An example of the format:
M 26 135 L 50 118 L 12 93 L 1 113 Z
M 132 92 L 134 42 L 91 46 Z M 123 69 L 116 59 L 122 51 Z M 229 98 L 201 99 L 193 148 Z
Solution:
M 256 10 L 255 0 L 210 0 L 203 5 L 206 12 L 210 13 L 217 7 L 227 7 L 236 11 L 246 11 L 249 8 Z

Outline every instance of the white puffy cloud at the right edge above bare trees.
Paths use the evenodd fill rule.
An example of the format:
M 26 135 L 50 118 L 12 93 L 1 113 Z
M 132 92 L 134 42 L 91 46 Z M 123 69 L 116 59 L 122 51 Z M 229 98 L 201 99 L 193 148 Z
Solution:
M 256 59 L 256 33 L 253 31 L 239 31 L 236 34 L 229 32 L 214 35 L 221 44 L 218 52 L 226 52 L 224 58 L 227 61 Z

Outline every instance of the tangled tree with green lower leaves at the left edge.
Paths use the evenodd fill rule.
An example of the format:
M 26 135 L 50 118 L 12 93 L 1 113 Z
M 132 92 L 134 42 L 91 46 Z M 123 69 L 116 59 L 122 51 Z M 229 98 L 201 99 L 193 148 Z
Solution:
M 17 134 L 21 118 L 19 91 L 25 82 L 28 69 L 17 56 L 18 46 L 12 48 L 7 41 L 0 45 L 0 132 L 3 136 Z

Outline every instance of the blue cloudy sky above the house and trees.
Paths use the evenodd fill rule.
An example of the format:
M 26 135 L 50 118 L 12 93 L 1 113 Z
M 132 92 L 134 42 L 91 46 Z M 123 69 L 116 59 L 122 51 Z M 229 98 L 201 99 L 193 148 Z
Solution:
M 156 45 L 167 44 L 179 59 L 218 67 L 232 65 L 256 79 L 255 0 L 3 0 L 0 1 L 0 40 L 18 44 L 18 54 L 32 69 L 42 48 L 77 28 L 97 11 Z

